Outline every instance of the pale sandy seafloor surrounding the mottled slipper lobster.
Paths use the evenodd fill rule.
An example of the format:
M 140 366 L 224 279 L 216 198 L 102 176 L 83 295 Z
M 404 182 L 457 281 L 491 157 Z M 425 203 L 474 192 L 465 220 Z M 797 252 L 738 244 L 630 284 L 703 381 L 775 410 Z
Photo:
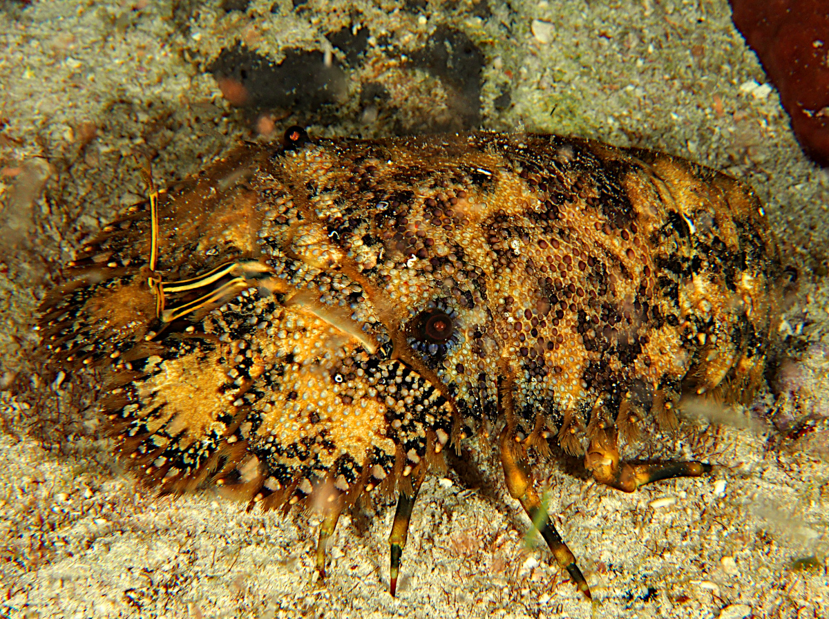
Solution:
M 298 13 L 255 0 L 247 15 L 221 2 L 23 5 L 0 2 L 0 616 L 829 617 L 827 432 L 784 440 L 768 425 L 829 416 L 829 174 L 802 156 L 725 0 L 491 2 L 484 17 L 471 6 L 457 17 L 463 2 L 404 12 L 312 0 Z M 246 513 L 210 491 L 155 498 L 115 462 L 95 414 L 71 405 L 84 399 L 71 377 L 50 386 L 38 374 L 48 273 L 141 199 L 131 154 L 153 147 L 164 184 L 255 137 L 206 72 L 222 46 L 322 49 L 350 15 L 406 46 L 450 13 L 486 58 L 482 128 L 577 133 L 725 169 L 754 184 L 800 271 L 779 324 L 791 360 L 778 401 L 761 394 L 754 413 L 689 421 L 626 451 L 706 460 L 710 478 L 623 495 L 541 464 L 592 606 L 526 538 L 499 465 L 477 450 L 465 452 L 477 473 L 425 483 L 392 599 L 393 509 L 343 516 L 319 585 L 313 517 Z M 547 22 L 535 34 L 534 19 Z M 312 134 L 384 133 L 375 114 L 358 116 Z

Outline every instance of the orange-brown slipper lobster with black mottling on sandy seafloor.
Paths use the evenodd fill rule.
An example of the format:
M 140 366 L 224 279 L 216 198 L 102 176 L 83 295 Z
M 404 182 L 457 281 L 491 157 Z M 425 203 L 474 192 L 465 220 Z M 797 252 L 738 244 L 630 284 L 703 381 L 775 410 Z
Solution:
M 749 187 L 676 157 L 295 131 L 174 194 L 154 269 L 133 207 L 41 319 L 54 363 L 98 373 L 120 455 L 162 491 L 212 482 L 332 530 L 378 486 L 416 495 L 448 444 L 501 437 L 533 515 L 528 448 L 586 448 L 599 481 L 631 490 L 616 440 L 638 418 L 671 425 L 682 394 L 762 382 L 777 246 Z

